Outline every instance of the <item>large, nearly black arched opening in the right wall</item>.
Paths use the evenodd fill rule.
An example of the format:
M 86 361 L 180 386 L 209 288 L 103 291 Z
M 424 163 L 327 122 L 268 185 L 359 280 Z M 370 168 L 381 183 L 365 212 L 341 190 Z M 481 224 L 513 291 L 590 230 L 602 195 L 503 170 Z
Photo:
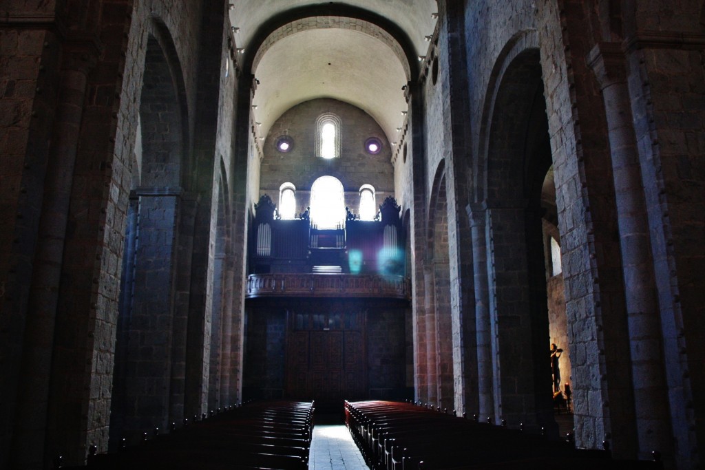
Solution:
M 486 172 L 495 419 L 550 427 L 541 225 L 541 187 L 551 166 L 548 120 L 538 49 L 510 48 L 507 55 L 486 123 L 486 161 L 479 163 Z

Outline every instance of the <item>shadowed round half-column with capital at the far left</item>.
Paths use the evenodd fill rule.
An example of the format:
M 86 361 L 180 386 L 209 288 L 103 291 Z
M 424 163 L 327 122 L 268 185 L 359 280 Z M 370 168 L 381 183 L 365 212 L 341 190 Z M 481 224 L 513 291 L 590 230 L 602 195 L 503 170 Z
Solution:
M 27 306 L 22 370 L 32 372 L 20 376 L 14 433 L 16 445 L 13 445 L 13 462 L 20 466 L 42 462 L 56 303 L 71 202 L 73 166 L 80 135 L 87 74 L 94 66 L 96 55 L 97 44 L 91 42 L 69 40 L 63 51 L 54 140 L 47 161 L 44 202 Z

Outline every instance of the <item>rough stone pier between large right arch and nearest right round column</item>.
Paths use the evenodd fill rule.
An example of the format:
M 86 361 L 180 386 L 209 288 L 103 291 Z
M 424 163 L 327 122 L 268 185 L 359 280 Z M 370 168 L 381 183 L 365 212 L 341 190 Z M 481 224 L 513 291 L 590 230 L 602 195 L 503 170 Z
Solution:
M 576 442 L 634 455 L 630 352 L 601 96 L 581 6 L 537 4 L 574 385 Z M 602 360 L 599 358 L 603 357 Z M 576 390 L 577 389 L 577 390 Z

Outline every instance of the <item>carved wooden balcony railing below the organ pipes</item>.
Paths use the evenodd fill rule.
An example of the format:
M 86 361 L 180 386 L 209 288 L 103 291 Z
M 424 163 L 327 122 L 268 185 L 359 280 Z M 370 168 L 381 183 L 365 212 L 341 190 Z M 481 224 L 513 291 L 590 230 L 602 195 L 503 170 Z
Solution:
M 250 274 L 245 296 L 410 299 L 411 282 L 404 276 L 370 274 Z

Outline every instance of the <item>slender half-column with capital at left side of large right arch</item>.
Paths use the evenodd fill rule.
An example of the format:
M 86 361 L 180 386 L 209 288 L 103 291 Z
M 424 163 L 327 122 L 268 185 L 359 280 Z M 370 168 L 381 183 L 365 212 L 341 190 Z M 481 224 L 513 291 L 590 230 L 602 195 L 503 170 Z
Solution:
M 472 259 L 474 269 L 475 330 L 477 331 L 477 382 L 479 389 L 478 416 L 496 416 L 494 403 L 494 348 L 489 316 L 489 290 L 487 285 L 486 207 L 484 204 L 467 206 L 472 233 Z M 467 410 L 470 414 L 471 410 Z

